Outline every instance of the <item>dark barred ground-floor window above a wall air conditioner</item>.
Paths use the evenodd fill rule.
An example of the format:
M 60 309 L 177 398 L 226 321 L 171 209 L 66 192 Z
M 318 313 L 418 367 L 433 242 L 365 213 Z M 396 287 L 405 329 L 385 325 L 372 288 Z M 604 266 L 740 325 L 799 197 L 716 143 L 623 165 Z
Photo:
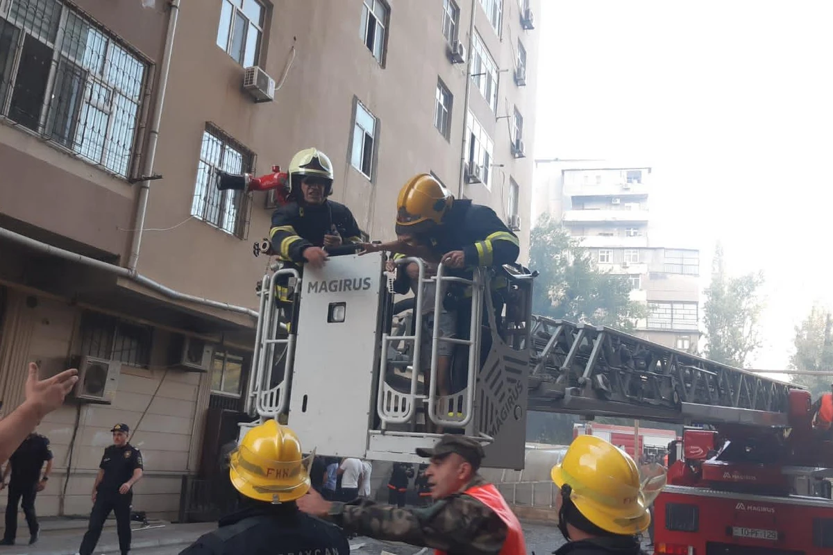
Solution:
M 87 356 L 147 368 L 152 339 L 150 326 L 128 324 L 96 312 L 82 315 L 81 352 Z

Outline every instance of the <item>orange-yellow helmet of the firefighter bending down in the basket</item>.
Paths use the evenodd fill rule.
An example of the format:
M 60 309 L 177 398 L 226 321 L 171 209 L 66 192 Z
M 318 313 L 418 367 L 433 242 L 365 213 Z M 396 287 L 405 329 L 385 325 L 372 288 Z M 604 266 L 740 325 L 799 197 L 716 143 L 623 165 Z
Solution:
M 397 235 L 425 233 L 451 208 L 454 197 L 434 176 L 420 173 L 402 186 L 397 199 Z

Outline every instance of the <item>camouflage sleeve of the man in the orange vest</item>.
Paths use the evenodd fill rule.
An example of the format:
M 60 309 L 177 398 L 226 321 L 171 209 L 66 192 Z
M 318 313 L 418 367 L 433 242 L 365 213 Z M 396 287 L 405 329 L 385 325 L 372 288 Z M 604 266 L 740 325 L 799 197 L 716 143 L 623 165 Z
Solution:
M 348 533 L 447 553 L 497 555 L 506 541 L 506 523 L 468 495 L 443 499 L 427 508 L 362 501 L 333 509 L 330 518 Z

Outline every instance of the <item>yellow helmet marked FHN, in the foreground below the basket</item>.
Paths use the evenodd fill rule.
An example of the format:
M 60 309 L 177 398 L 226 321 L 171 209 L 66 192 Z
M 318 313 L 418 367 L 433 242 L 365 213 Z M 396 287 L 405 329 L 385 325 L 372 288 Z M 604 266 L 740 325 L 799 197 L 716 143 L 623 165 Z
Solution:
M 247 498 L 287 503 L 309 491 L 313 458 L 315 453 L 303 456 L 295 432 L 269 419 L 249 430 L 232 451 L 229 477 Z

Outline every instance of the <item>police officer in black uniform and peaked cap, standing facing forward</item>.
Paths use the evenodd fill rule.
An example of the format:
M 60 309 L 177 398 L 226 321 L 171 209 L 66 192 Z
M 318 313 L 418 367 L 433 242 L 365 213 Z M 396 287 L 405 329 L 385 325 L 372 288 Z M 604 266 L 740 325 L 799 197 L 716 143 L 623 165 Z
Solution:
M 102 462 L 98 465 L 96 483 L 92 487 L 90 524 L 78 549 L 79 555 L 92 554 L 111 511 L 116 513 L 118 547 L 122 555 L 130 551 L 132 487 L 142 479 L 142 453 L 127 443 L 127 434 L 130 433 L 127 424 L 116 424 L 110 431 L 112 445 L 104 449 Z

